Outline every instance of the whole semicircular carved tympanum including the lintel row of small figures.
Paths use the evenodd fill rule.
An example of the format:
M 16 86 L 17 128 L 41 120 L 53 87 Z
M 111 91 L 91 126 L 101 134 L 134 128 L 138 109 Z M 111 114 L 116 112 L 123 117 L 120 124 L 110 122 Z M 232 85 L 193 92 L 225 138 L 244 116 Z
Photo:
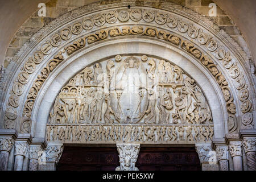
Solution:
M 46 133 L 62 143 L 195 143 L 212 140 L 213 121 L 202 90 L 177 65 L 117 55 L 69 80 Z

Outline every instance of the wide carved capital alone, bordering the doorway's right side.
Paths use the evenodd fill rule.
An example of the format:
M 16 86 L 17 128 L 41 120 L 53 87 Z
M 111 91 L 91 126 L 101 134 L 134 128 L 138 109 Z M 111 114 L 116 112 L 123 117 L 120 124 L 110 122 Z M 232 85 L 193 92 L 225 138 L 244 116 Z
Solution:
M 196 144 L 196 152 L 199 155 L 201 164 L 217 164 L 216 152 L 210 144 Z

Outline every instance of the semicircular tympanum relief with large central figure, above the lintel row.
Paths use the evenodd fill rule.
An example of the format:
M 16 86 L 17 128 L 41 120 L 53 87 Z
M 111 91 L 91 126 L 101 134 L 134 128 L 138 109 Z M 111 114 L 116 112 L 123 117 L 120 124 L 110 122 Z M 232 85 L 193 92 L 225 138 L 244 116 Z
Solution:
M 183 126 L 183 129 L 174 127 L 177 134 L 184 130 L 184 133 L 198 134 L 200 130 L 192 131 L 192 128 L 213 126 L 209 105 L 195 80 L 177 65 L 146 55 L 118 55 L 85 67 L 61 89 L 49 116 L 48 127 L 53 126 L 47 131 L 49 135 L 53 128 L 57 133 L 67 130 L 68 135 L 66 125 L 132 125 L 134 131 L 130 135 L 136 130 L 138 138 L 142 133 L 139 129 L 147 125 Z M 141 127 L 135 129 L 137 125 Z M 157 131 L 156 127 L 153 133 Z M 164 140 L 165 134 L 162 136 Z

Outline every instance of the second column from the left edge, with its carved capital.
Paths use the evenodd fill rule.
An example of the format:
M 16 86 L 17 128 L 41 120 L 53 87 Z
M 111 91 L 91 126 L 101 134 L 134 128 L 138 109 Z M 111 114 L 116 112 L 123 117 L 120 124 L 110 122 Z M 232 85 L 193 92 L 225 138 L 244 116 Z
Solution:
M 23 160 L 28 152 L 29 145 L 27 142 L 19 141 L 15 142 L 15 162 L 14 171 L 22 171 Z

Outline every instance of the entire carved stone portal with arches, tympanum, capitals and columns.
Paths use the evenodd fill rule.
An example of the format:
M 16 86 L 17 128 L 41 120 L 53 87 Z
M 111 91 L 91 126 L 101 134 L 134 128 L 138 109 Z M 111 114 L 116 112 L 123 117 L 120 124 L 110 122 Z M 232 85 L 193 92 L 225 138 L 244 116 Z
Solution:
M 255 169 L 249 57 L 209 19 L 152 5 L 81 7 L 20 50 L 2 94 L 3 169 L 55 169 L 63 144 L 88 143 L 131 145 L 121 170 L 136 169 L 137 144 L 196 146 L 203 170 Z

